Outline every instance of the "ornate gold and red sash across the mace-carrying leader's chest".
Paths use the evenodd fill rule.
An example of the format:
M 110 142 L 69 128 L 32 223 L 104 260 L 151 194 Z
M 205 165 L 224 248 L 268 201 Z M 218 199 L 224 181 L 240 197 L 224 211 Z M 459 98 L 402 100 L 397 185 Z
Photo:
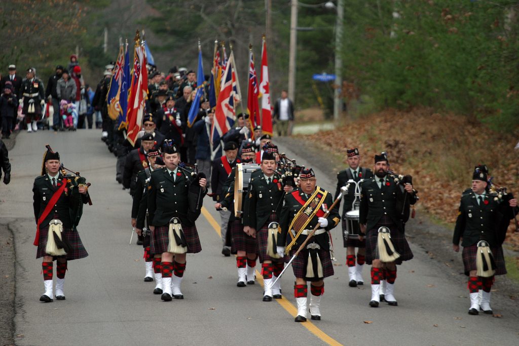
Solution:
M 328 195 L 328 192 L 326 190 L 322 190 L 319 186 L 316 188 L 316 191 L 312 193 L 310 198 L 308 198 L 308 201 L 304 201 L 301 196 L 299 196 L 299 191 L 292 192 L 292 196 L 296 199 L 299 204 L 302 204 L 303 206 L 297 214 L 292 219 L 292 222 L 289 226 L 288 233 L 290 234 L 290 238 L 292 241 L 286 245 L 286 252 L 288 253 L 292 246 L 297 241 L 297 238 L 301 235 L 301 233 L 305 230 L 306 226 L 310 223 L 312 218 L 314 216 L 322 217 L 324 215 L 324 212 L 321 210 L 321 205 L 324 202 L 324 199 Z M 296 232 L 294 233 L 292 232 Z

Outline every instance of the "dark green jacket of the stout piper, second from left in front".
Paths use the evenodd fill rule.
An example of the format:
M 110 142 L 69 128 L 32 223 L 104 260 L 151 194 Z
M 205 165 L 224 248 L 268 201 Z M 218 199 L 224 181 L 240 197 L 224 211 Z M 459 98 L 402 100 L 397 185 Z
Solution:
M 152 172 L 148 187 L 151 226 L 167 225 L 172 217 L 180 218 L 183 225 L 194 226 L 187 219 L 189 177 L 181 169 L 177 172 L 180 175 L 177 173 L 174 181 L 165 167 Z

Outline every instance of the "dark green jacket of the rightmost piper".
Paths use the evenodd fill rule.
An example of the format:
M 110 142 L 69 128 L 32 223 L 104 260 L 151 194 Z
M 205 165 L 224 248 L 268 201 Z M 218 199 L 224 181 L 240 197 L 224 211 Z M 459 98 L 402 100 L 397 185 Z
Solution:
M 474 245 L 480 240 L 486 240 L 490 247 L 501 245 L 504 240 L 506 228 L 500 229 L 498 225 L 504 219 L 506 224 L 516 213 L 508 201 L 501 203 L 494 201 L 494 196 L 484 195 L 481 205 L 477 204 L 474 192 L 463 192 L 459 203 L 458 218 L 454 227 L 453 244 L 458 245 L 461 238 L 461 246 Z

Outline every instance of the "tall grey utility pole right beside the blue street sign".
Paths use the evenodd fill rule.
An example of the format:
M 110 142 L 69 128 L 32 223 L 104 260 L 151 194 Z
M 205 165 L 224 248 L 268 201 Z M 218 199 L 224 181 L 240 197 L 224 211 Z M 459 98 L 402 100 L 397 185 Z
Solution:
M 333 121 L 338 122 L 343 110 L 343 21 L 344 0 L 337 0 L 337 22 L 335 24 L 335 89 L 333 98 Z

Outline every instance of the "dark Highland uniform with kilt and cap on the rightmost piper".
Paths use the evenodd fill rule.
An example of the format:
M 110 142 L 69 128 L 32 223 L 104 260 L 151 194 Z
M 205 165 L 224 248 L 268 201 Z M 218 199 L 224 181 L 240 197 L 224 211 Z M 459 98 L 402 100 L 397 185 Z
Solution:
M 483 171 L 481 166 L 477 166 L 473 180 L 486 182 L 486 167 Z M 494 282 L 494 275 L 507 273 L 501 244 L 506 236 L 510 219 L 517 213 L 517 209 L 509 204 L 512 196 L 497 201 L 495 197 L 488 195 L 486 191 L 481 195 L 472 189 L 463 191 L 454 228 L 453 244 L 458 245 L 461 240 L 463 246 L 463 266 L 465 275 L 469 276 L 468 288 L 471 300 L 469 314 L 473 315 L 477 315 L 480 308 L 485 313 L 492 313 L 490 289 Z M 481 240 L 488 243 L 494 261 L 495 273 L 489 277 L 469 275 L 471 271 L 477 270 L 476 257 L 480 252 L 477 244 Z M 478 301 L 480 293 L 481 302 Z

